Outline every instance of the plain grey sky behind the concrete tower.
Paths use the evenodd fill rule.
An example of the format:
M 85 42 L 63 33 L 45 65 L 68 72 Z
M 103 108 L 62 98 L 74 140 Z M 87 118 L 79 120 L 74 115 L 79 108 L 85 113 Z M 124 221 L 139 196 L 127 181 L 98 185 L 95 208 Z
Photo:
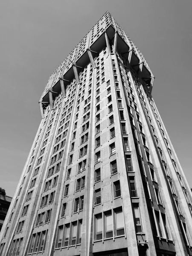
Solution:
M 145 56 L 152 96 L 192 187 L 192 1 L 6 0 L 0 3 L 0 187 L 14 195 L 51 73 L 106 12 Z

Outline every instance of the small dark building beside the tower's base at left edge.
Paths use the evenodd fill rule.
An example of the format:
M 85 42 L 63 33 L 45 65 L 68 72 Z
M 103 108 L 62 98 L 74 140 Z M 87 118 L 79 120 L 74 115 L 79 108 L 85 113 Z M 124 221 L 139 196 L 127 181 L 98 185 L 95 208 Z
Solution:
M 6 218 L 11 201 L 12 201 L 12 197 L 7 195 L 2 195 L 2 193 L 0 193 L 0 231 L 3 226 L 3 222 Z

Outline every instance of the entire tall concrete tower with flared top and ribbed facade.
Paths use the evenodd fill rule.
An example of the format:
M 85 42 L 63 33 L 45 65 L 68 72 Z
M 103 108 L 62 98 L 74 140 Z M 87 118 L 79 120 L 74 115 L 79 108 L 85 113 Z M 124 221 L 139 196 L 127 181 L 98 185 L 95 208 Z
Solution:
M 106 12 L 44 89 L 1 256 L 192 255 L 192 194 L 153 82 Z

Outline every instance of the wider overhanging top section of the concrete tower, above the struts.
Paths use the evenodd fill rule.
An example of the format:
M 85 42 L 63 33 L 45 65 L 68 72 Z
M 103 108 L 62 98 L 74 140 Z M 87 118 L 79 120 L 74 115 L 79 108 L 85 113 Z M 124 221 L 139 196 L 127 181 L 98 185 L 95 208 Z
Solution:
M 151 92 L 151 79 L 154 78 L 154 76 L 148 67 L 143 54 L 137 49 L 111 14 L 106 12 L 49 77 L 40 99 L 41 102 L 44 102 L 44 105 L 49 104 L 50 90 L 55 92 L 55 94 L 53 94 L 54 99 L 54 95 L 56 96 L 56 93 L 61 92 L 62 84 L 66 87 L 69 81 L 74 78 L 74 64 L 77 66 L 77 72 L 79 73 L 82 68 L 90 63 L 88 51 L 91 51 L 94 58 L 97 53 L 106 47 L 105 32 L 107 33 L 111 44 L 114 44 L 114 41 L 116 40 L 116 49 L 123 55 L 123 57 L 126 59 L 130 58 L 129 64 L 137 73 L 140 72 L 140 78 L 145 81 Z M 61 79 L 63 79 L 62 84 Z

